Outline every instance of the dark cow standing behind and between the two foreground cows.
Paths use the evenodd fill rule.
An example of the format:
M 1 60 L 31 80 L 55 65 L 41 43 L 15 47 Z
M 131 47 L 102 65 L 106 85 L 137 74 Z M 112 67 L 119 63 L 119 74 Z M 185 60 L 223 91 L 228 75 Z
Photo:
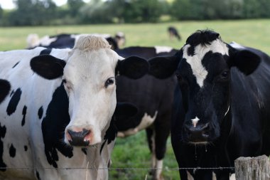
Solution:
M 153 58 L 159 55 L 173 55 L 176 50 L 166 46 L 129 47 L 116 51 L 127 58 L 138 55 L 142 58 Z M 154 78 L 145 75 L 138 80 L 117 77 L 117 100 L 132 102 L 139 112 L 131 117 L 131 123 L 119 122 L 123 128 L 119 129 L 119 136 L 126 137 L 146 129 L 148 146 L 152 153 L 152 168 L 155 169 L 153 179 L 162 179 L 163 158 L 166 153 L 166 141 L 171 127 L 171 106 L 173 104 L 173 87 L 176 78 Z M 127 89 L 126 89 L 127 88 Z M 136 127 L 136 128 L 133 128 Z

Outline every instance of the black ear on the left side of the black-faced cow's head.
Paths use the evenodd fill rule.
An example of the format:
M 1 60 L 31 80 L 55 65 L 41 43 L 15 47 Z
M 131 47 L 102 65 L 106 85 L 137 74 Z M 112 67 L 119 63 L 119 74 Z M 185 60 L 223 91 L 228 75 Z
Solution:
M 179 60 L 180 58 L 176 55 L 151 58 L 148 61 L 150 64 L 149 74 L 156 78 L 169 78 L 177 69 Z

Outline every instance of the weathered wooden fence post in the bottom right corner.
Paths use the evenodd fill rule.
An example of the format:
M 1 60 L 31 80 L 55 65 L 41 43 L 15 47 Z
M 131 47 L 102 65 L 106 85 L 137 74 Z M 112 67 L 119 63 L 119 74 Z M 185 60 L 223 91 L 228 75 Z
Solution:
M 270 163 L 266 155 L 239 157 L 234 166 L 237 180 L 270 180 Z

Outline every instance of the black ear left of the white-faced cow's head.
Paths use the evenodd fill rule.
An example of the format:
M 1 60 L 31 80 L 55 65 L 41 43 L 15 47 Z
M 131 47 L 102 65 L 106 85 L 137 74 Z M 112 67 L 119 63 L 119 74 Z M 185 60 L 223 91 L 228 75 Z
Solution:
M 65 60 L 53 57 L 52 55 L 38 55 L 31 59 L 31 69 L 41 77 L 53 80 L 63 75 Z

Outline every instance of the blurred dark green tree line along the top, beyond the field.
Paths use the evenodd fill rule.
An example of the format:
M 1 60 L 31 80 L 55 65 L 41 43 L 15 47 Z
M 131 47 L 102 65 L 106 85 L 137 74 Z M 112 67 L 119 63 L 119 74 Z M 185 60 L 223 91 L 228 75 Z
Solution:
M 270 18 L 269 0 L 68 0 L 64 6 L 52 0 L 13 1 L 16 9 L 0 6 L 0 26 Z

